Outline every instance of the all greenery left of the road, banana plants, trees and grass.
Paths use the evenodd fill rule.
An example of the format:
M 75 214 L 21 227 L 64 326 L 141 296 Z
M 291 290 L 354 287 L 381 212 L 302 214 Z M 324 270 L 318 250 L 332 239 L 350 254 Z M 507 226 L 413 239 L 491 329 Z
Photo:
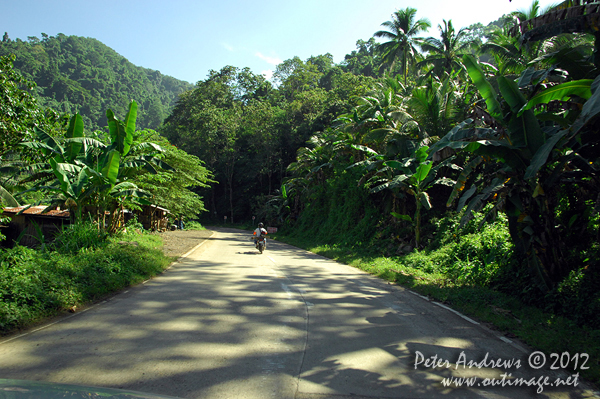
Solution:
M 0 335 L 77 311 L 161 273 L 173 261 L 159 236 L 125 210 L 155 205 L 177 218 L 204 210 L 195 187 L 211 181 L 202 162 L 151 130 L 136 130 L 138 105 L 123 120 L 106 111 L 107 131 L 85 129 L 79 113 L 41 108 L 35 84 L 0 57 L 0 241 L 5 207 L 67 210 L 70 223 L 49 233 L 35 221 L 0 248 Z M 19 213 L 17 215 L 19 215 Z M 60 224 L 59 224 L 60 225 Z M 200 225 L 196 226 L 201 228 Z M 24 236 L 35 248 L 19 245 Z

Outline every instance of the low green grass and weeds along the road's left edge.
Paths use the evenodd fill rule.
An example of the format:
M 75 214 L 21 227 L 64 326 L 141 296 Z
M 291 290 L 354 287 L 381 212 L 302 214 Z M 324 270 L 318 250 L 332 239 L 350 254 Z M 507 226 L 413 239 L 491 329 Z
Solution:
M 160 274 L 172 261 L 156 235 L 108 237 L 86 226 L 63 231 L 47 249 L 0 250 L 0 335 L 94 303 Z

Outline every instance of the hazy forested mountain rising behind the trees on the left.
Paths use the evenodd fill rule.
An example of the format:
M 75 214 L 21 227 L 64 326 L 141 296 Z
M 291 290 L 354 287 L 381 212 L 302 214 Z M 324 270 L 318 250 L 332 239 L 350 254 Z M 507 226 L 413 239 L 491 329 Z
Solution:
M 96 39 L 59 33 L 42 39 L 11 40 L 5 33 L 0 55 L 14 54 L 14 67 L 35 82 L 35 96 L 42 107 L 65 113 L 79 112 L 86 128 L 106 126 L 106 110 L 118 116 L 129 102 L 139 104 L 140 128 L 156 129 L 182 92 L 193 86 L 137 67 Z

